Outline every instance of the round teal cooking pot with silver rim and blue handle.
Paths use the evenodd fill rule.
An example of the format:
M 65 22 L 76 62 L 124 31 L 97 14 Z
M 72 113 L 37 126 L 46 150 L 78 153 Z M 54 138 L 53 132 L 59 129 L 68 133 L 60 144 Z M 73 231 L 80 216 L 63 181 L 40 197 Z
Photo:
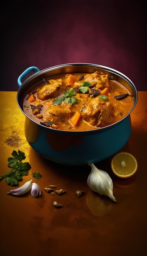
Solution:
M 26 93 L 34 85 L 42 82 L 44 76 L 49 79 L 60 74 L 93 73 L 95 71 L 109 74 L 112 79 L 123 84 L 133 97 L 132 110 L 135 108 L 138 99 L 135 85 L 127 76 L 110 67 L 89 63 L 69 63 L 41 71 L 37 67 L 29 67 L 18 77 L 20 88 L 17 93 L 17 103 L 26 116 L 24 126 L 26 139 L 37 153 L 50 161 L 70 166 L 100 162 L 116 154 L 127 143 L 132 130 L 130 118 L 132 110 L 114 124 L 88 131 L 64 131 L 48 128 L 30 119 L 23 111 L 23 100 Z M 31 72 L 35 74 L 22 82 Z

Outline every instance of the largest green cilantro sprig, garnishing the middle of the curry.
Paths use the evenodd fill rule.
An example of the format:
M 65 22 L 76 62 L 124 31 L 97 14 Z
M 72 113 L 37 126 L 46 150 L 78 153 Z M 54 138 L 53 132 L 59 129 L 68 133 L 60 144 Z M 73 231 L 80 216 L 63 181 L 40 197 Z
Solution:
M 66 90 L 64 92 L 64 96 L 62 97 L 58 97 L 57 99 L 55 99 L 55 101 L 53 101 L 54 105 L 59 105 L 61 104 L 62 101 L 65 101 L 65 103 L 70 103 L 72 104 L 77 104 L 77 98 L 73 97 L 76 94 L 75 89 L 70 88 L 70 90 Z

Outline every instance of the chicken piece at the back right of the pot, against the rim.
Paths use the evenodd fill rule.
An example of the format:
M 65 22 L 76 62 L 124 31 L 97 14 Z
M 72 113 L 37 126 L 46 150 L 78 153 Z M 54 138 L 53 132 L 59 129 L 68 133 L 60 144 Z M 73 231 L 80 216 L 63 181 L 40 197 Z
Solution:
M 96 71 L 92 74 L 87 74 L 85 76 L 85 81 L 89 81 L 91 83 L 91 87 L 94 87 L 99 90 L 103 90 L 105 87 L 111 89 L 111 85 L 107 75 L 99 75 Z

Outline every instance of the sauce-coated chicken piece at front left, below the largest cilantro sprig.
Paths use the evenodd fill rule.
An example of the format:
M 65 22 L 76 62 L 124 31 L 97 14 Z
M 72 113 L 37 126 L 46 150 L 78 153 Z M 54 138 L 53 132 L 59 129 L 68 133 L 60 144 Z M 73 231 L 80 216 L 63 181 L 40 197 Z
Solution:
M 68 119 L 70 119 L 70 117 L 72 116 L 72 111 L 70 110 L 70 108 L 70 104 L 65 104 L 64 106 L 51 105 L 47 108 L 43 121 L 55 121 L 57 125 L 60 122 L 68 121 Z

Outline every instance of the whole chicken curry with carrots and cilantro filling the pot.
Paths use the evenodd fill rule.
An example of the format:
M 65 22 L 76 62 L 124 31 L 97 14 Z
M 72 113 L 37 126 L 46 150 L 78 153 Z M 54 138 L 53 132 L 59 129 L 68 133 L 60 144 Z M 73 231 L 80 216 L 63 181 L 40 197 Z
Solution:
M 62 74 L 27 92 L 23 110 L 51 129 L 94 130 L 123 119 L 134 106 L 132 95 L 108 74 Z

